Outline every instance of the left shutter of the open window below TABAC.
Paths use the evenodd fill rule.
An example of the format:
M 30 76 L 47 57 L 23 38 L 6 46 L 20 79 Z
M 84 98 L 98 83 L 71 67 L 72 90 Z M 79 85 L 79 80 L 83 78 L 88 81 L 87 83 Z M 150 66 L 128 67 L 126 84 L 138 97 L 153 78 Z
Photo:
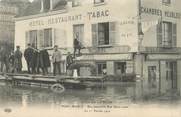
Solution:
M 92 46 L 98 46 L 98 24 L 92 24 Z

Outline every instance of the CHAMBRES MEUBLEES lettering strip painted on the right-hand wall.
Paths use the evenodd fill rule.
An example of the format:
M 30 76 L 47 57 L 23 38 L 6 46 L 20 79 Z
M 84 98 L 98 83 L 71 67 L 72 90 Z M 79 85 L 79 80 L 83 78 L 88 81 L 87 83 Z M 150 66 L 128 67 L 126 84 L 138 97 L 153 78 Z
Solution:
M 179 12 L 173 12 L 173 11 L 164 11 L 161 9 L 154 9 L 154 8 L 146 8 L 141 7 L 141 13 L 146 13 L 150 15 L 157 15 L 157 16 L 164 16 L 164 17 L 170 17 L 175 19 L 181 18 L 181 13 Z

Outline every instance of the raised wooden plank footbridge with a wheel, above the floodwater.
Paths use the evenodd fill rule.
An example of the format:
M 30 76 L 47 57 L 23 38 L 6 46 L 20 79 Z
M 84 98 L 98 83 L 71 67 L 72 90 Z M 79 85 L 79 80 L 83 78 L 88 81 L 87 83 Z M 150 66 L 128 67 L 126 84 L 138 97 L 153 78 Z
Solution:
M 10 83 L 13 86 L 29 86 L 51 89 L 86 89 L 102 86 L 103 77 L 86 76 L 43 76 L 31 74 L 0 74 L 0 81 Z M 58 92 L 58 91 L 57 91 Z

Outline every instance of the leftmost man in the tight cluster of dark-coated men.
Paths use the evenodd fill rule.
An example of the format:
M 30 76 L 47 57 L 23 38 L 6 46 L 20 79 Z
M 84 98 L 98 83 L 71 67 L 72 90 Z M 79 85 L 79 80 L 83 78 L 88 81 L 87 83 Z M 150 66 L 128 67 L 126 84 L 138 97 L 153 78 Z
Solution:
M 27 63 L 27 67 L 28 67 L 28 73 L 32 73 L 32 69 L 31 69 L 31 59 L 33 57 L 33 49 L 31 48 L 31 45 L 28 44 L 27 49 L 24 52 L 24 57 Z

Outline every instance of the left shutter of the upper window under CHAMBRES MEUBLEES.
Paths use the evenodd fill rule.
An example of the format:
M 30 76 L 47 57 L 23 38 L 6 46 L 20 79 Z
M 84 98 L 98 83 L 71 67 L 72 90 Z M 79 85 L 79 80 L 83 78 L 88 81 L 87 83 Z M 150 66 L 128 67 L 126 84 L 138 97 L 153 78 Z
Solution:
M 157 25 L 157 46 L 162 47 L 162 23 Z

